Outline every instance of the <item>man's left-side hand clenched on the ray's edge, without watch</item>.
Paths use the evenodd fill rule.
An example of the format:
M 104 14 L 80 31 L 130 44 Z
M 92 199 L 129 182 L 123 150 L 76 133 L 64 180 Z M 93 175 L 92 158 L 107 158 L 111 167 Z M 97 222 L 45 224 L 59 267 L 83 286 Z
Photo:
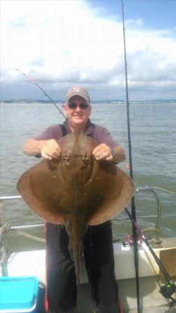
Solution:
M 41 156 L 46 160 L 59 159 L 61 157 L 61 147 L 55 139 L 50 139 L 42 146 Z

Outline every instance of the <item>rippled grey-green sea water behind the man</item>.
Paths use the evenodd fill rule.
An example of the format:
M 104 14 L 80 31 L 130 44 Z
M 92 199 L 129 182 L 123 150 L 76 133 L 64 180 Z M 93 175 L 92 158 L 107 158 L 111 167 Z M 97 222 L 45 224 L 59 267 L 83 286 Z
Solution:
M 17 195 L 16 184 L 20 175 L 38 162 L 35 157 L 22 154 L 22 145 L 27 138 L 40 134 L 46 127 L 61 124 L 63 117 L 52 104 L 1 103 L 0 106 L 0 195 Z M 147 185 L 176 193 L 176 103 L 131 103 L 129 113 L 132 166 L 136 188 Z M 129 163 L 126 104 L 93 104 L 91 120 L 109 129 L 117 143 L 124 147 L 127 158 L 120 163 L 120 168 L 129 173 L 125 166 Z M 175 236 L 176 194 L 166 193 L 160 189 L 155 191 L 162 204 L 160 236 Z M 136 194 L 135 204 L 137 217 L 156 214 L 157 203 L 150 193 Z M 122 212 L 118 217 L 127 216 Z M 22 200 L 6 201 L 3 204 L 3 219 L 13 226 L 43 222 L 26 207 Z M 155 223 L 154 218 L 138 219 L 138 224 L 143 229 L 153 227 Z M 123 236 L 131 232 L 131 223 L 125 220 L 116 221 L 113 228 L 119 236 Z M 40 230 L 33 230 L 33 232 L 38 233 Z

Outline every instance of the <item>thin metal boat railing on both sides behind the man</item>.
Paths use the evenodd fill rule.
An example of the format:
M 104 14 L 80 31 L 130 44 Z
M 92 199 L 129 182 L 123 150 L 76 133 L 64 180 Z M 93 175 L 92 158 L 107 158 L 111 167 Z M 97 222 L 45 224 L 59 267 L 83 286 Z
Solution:
M 157 195 L 156 191 L 154 191 L 154 188 L 152 187 L 138 187 L 136 188 L 136 194 L 141 193 L 141 192 L 148 192 L 150 194 L 152 194 L 154 196 L 154 198 L 157 200 L 157 213 L 154 215 L 147 215 L 147 216 L 138 216 L 139 218 L 157 218 L 157 222 L 155 225 L 155 229 L 156 229 L 156 236 L 159 236 L 159 230 L 161 227 L 161 200 L 159 199 L 159 195 Z M 22 199 L 22 197 L 20 195 L 13 195 L 13 196 L 1 196 L 0 197 L 0 207 L 2 208 L 2 204 L 3 202 L 6 202 L 8 200 L 19 200 Z M 113 218 L 113 220 L 129 220 L 129 218 L 125 218 L 125 217 L 117 217 L 117 218 Z M 32 227 L 42 227 L 45 224 L 35 224 L 35 225 L 24 225 L 24 226 L 11 226 L 10 228 L 13 230 L 15 229 L 22 229 L 22 228 L 32 228 Z

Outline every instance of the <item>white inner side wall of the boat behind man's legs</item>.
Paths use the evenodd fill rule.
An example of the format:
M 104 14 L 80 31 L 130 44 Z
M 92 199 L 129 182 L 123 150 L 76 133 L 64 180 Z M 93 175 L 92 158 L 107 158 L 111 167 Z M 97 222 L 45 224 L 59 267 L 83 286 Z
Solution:
M 127 246 L 124 248 L 122 243 L 114 243 L 113 249 L 115 258 L 115 275 L 117 280 L 135 278 L 133 246 Z M 174 250 L 176 255 L 175 247 L 154 248 L 157 257 L 160 257 L 161 253 L 170 252 L 170 250 Z M 174 259 L 172 261 L 175 262 Z M 145 243 L 138 247 L 138 263 L 139 277 L 159 275 L 159 266 Z M 173 267 L 174 266 L 175 264 L 173 264 Z M 12 253 L 8 259 L 8 275 L 35 275 L 38 277 L 38 280 L 45 283 L 45 250 Z M 86 282 L 88 282 L 88 278 L 82 258 L 81 283 Z

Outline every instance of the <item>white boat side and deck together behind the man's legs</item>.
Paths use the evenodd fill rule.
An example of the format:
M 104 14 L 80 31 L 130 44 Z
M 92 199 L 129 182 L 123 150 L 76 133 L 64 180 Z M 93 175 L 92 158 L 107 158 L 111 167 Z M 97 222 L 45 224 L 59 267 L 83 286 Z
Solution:
M 162 260 L 168 272 L 176 277 L 176 245 L 175 239 L 163 240 L 160 248 L 154 252 Z M 119 296 L 123 312 L 136 313 L 136 282 L 134 271 L 133 247 L 123 248 L 121 243 L 114 244 L 115 274 L 119 285 Z M 169 307 L 170 300 L 164 298 L 159 289 L 166 284 L 157 266 L 143 245 L 138 249 L 141 313 L 176 313 L 176 307 Z M 10 276 L 36 275 L 45 283 L 45 250 L 13 253 L 8 260 L 8 274 Z M 78 295 L 77 310 L 75 313 L 93 313 L 90 290 L 82 259 L 81 285 Z M 175 295 L 173 295 L 175 298 Z M 36 312 L 43 313 L 43 312 Z

